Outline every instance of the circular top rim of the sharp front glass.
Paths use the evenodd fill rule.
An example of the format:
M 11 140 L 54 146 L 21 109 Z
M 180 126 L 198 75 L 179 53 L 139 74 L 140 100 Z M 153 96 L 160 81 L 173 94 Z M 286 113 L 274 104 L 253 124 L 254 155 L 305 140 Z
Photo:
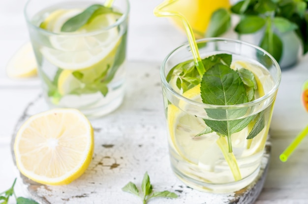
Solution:
M 241 103 L 241 104 L 235 104 L 235 105 L 214 105 L 214 104 L 196 102 L 196 101 L 190 100 L 188 98 L 185 98 L 184 96 L 182 96 L 181 94 L 176 92 L 173 88 L 171 88 L 171 86 L 169 85 L 169 83 L 166 80 L 166 75 L 165 75 L 165 72 L 164 72 L 164 67 L 165 67 L 165 65 L 166 65 L 166 63 L 167 63 L 167 61 L 168 61 L 168 59 L 170 58 L 171 55 L 173 55 L 176 51 L 178 51 L 178 50 L 180 50 L 182 48 L 189 47 L 189 43 L 187 42 L 185 44 L 180 45 L 176 49 L 172 50 L 165 57 L 165 59 L 163 60 L 161 66 L 160 66 L 160 79 L 161 79 L 162 84 L 166 87 L 166 89 L 168 89 L 177 98 L 179 98 L 180 100 L 185 101 L 187 103 L 190 103 L 192 105 L 201 106 L 201 107 L 204 107 L 204 108 L 217 108 L 217 109 L 219 109 L 219 108 L 224 108 L 224 109 L 225 108 L 230 108 L 230 109 L 233 109 L 234 108 L 235 109 L 235 108 L 243 108 L 243 107 L 246 107 L 246 106 L 253 106 L 253 105 L 256 105 L 257 103 L 263 102 L 263 101 L 267 100 L 270 96 L 272 96 L 273 93 L 278 89 L 278 86 L 279 86 L 280 80 L 281 80 L 281 69 L 280 69 L 279 64 L 275 60 L 275 58 L 270 53 L 268 53 L 266 50 L 262 49 L 261 47 L 259 47 L 257 45 L 254 45 L 254 44 L 251 44 L 251 43 L 248 43 L 248 42 L 244 42 L 242 40 L 230 39 L 230 38 L 224 38 L 224 37 L 209 37 L 209 38 L 202 38 L 202 39 L 196 40 L 197 43 L 199 43 L 199 42 L 207 42 L 207 41 L 213 41 L 213 42 L 214 41 L 229 41 L 229 42 L 241 43 L 241 44 L 245 44 L 246 46 L 250 46 L 250 47 L 253 47 L 253 48 L 257 49 L 257 50 L 260 50 L 260 51 L 264 52 L 264 54 L 266 54 L 267 56 L 270 57 L 270 59 L 274 63 L 274 66 L 277 68 L 278 80 L 276 81 L 274 87 L 268 93 L 266 93 L 264 96 L 254 100 L 254 101 L 246 102 L 246 103 Z

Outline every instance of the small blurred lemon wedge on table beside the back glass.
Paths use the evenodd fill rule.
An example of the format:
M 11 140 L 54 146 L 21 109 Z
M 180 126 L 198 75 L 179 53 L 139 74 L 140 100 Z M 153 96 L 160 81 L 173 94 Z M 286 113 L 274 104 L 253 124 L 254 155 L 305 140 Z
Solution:
M 35 76 L 37 64 L 31 42 L 24 44 L 9 60 L 6 73 L 10 78 Z

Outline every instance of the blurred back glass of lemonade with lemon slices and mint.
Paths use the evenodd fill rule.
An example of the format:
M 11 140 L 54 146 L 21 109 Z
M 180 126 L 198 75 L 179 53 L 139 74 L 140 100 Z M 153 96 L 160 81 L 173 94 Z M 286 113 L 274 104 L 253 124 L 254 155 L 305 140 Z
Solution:
M 110 113 L 124 96 L 128 0 L 29 0 L 31 43 L 50 107 Z

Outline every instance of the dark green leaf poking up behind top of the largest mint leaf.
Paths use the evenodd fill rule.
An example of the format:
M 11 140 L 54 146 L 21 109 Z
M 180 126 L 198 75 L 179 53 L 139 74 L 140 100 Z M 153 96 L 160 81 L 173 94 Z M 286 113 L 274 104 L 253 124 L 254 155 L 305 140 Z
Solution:
M 206 71 L 217 64 L 223 64 L 230 67 L 231 62 L 232 62 L 232 55 L 229 54 L 212 55 L 202 60 L 203 66 Z

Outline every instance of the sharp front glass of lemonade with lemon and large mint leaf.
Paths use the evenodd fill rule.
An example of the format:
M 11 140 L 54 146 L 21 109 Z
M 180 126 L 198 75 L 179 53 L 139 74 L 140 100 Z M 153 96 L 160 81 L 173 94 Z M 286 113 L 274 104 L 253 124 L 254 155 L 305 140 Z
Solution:
M 281 72 L 263 49 L 239 40 L 197 41 L 164 60 L 160 76 L 171 167 L 188 186 L 226 193 L 258 175 Z

